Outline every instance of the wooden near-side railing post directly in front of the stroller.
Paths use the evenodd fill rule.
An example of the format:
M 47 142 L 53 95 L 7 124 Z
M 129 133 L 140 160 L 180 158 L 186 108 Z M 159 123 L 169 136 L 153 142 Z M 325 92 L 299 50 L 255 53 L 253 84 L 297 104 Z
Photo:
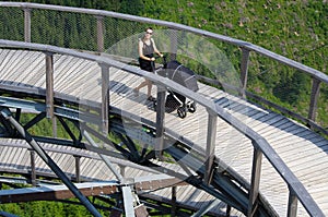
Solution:
M 155 155 L 159 159 L 163 156 L 164 145 L 164 117 L 165 117 L 165 96 L 166 89 L 163 86 L 157 86 L 157 101 L 156 101 L 156 143 L 155 143 Z

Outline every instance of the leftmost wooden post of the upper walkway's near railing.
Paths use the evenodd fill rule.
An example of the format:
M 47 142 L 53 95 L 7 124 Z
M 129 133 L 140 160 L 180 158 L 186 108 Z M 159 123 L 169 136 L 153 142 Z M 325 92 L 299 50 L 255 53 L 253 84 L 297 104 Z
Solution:
M 47 118 L 54 118 L 54 56 L 46 52 L 46 105 Z

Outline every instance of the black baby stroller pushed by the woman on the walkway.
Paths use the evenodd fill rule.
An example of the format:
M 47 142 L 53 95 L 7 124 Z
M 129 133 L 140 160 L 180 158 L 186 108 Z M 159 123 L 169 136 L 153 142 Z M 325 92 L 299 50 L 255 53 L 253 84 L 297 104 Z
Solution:
M 164 57 L 164 67 L 155 71 L 159 75 L 167 77 L 192 92 L 199 89 L 195 73 L 176 60 L 166 62 Z M 165 111 L 172 112 L 177 109 L 179 118 L 186 118 L 187 111 L 194 113 L 196 111 L 196 103 L 187 99 L 184 95 L 168 89 L 165 100 Z

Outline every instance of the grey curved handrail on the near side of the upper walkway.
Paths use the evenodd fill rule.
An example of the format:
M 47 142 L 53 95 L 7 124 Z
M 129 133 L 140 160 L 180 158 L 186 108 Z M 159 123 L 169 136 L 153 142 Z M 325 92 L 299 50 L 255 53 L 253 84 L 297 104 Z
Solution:
M 13 49 L 30 49 L 37 50 L 43 52 L 52 52 L 59 55 L 69 55 L 77 58 L 82 58 L 91 61 L 95 61 L 98 64 L 107 64 L 108 67 L 114 67 L 117 69 L 122 69 L 129 73 L 133 73 L 140 76 L 144 76 L 148 80 L 151 80 L 155 84 L 160 86 L 168 87 L 179 94 L 187 95 L 188 98 L 195 100 L 197 104 L 202 105 L 208 109 L 209 113 L 215 113 L 215 116 L 222 118 L 231 125 L 233 125 L 236 130 L 241 131 L 247 137 L 249 137 L 254 143 L 255 148 L 259 148 L 261 153 L 268 158 L 270 164 L 276 168 L 279 174 L 283 178 L 283 180 L 288 183 L 290 191 L 293 192 L 303 204 L 305 209 L 312 216 L 324 216 L 320 208 L 317 206 L 316 202 L 312 198 L 309 193 L 306 191 L 304 185 L 298 181 L 298 179 L 293 174 L 293 172 L 286 167 L 283 160 L 279 157 L 279 155 L 274 152 L 274 149 L 270 146 L 270 144 L 261 137 L 258 133 L 256 133 L 253 129 L 248 128 L 246 124 L 235 119 L 233 116 L 224 111 L 223 108 L 215 106 L 213 101 L 201 97 L 198 93 L 195 93 L 184 86 L 178 85 L 177 83 L 159 76 L 153 73 L 148 73 L 139 68 L 124 64 L 121 62 L 110 60 L 105 57 L 99 57 L 95 55 L 90 55 L 85 52 L 80 52 L 75 50 L 71 50 L 68 48 L 59 48 L 56 46 L 49 45 L 40 45 L 40 44 L 31 44 L 31 43 L 22 43 L 22 41 L 10 41 L 0 39 L 0 47 L 2 48 L 13 48 Z

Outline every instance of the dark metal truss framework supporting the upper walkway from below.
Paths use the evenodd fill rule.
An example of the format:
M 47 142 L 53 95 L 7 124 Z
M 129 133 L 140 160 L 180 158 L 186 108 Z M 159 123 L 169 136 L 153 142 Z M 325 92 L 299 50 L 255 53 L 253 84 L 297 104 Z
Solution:
M 166 168 L 165 164 L 153 162 L 152 160 L 156 159 L 156 154 L 153 149 L 155 144 L 148 144 L 148 148 L 143 147 L 143 149 L 139 152 L 138 149 L 140 148 L 138 147 L 138 144 L 133 142 L 136 141 L 137 136 L 132 137 L 132 133 L 129 133 L 129 135 L 127 135 L 127 131 L 134 132 L 137 135 L 140 129 L 133 129 L 133 125 L 136 125 L 133 119 L 129 119 L 129 124 L 122 124 L 122 121 L 125 121 L 124 119 L 127 119 L 127 117 L 131 117 L 132 114 L 127 113 L 127 117 L 122 117 L 119 114 L 121 112 L 110 113 L 112 118 L 109 119 L 109 129 L 110 132 L 115 133 L 120 138 L 121 144 L 118 145 L 117 143 L 110 141 L 103 133 L 98 133 L 92 128 L 87 126 L 85 120 L 79 119 L 79 112 L 81 111 L 58 106 L 55 108 L 56 118 L 71 136 L 70 140 L 58 140 L 55 137 L 31 135 L 28 133 L 30 128 L 37 124 L 43 119 L 46 119 L 46 106 L 44 104 L 8 97 L 1 97 L 0 100 L 2 104 L 0 116 L 1 137 L 23 138 L 27 141 L 31 145 L 31 148 L 33 148 L 47 162 L 51 170 L 69 188 L 74 196 L 78 197 L 80 202 L 84 204 L 85 207 L 95 216 L 99 215 L 97 210 L 93 207 L 89 200 L 85 198 L 85 195 L 83 195 L 83 193 L 81 193 L 81 191 L 79 191 L 79 189 L 67 178 L 67 176 L 60 170 L 56 162 L 46 154 L 39 143 L 73 146 L 77 148 L 90 148 L 93 152 L 98 153 L 104 160 L 106 160 L 106 156 L 128 159 L 138 165 L 155 169 L 161 173 L 166 173 L 171 177 L 176 177 L 179 180 L 185 180 L 186 183 L 208 192 L 220 201 L 229 204 L 229 206 L 234 207 L 242 213 L 247 212 L 249 184 L 247 184 L 247 182 L 243 180 L 242 177 L 239 177 L 227 166 L 222 165 L 223 162 L 220 162 L 219 160 L 214 160 L 214 165 L 211 171 L 211 184 L 209 185 L 208 183 L 206 183 L 203 179 L 206 173 L 204 167 L 199 168 L 198 166 L 201 165 L 202 161 L 204 161 L 203 158 L 206 156 L 203 156 L 201 153 L 198 153 L 197 150 L 192 150 L 192 146 L 190 146 L 188 143 L 177 142 L 174 138 L 174 135 L 167 134 L 164 140 L 164 147 L 166 146 L 165 144 L 169 145 L 167 145 L 168 148 L 163 149 L 163 152 L 167 155 L 167 158 L 169 157 L 171 160 L 178 161 L 180 167 L 185 169 L 185 173 L 177 173 L 174 170 Z M 21 123 L 20 117 L 22 110 L 31 110 L 33 111 L 35 117 L 26 123 Z M 92 116 L 94 114 L 92 112 L 89 112 L 83 117 L 90 117 L 90 120 L 93 120 Z M 71 122 L 73 124 L 70 126 L 68 122 Z M 144 128 L 149 130 L 147 134 L 150 137 L 155 136 L 155 129 L 153 125 L 144 125 Z M 106 144 L 106 146 L 110 146 L 113 150 L 106 152 L 103 148 L 97 147 L 92 137 L 102 141 L 102 143 Z M 86 138 L 90 144 L 93 145 L 93 147 L 86 147 L 90 145 L 85 144 L 82 138 Z M 145 136 L 143 136 L 143 138 L 145 138 Z M 175 144 L 171 144 L 172 141 L 174 141 Z M 194 154 L 190 155 L 190 152 L 194 152 Z M 188 158 L 185 158 L 187 153 L 189 153 Z M 180 160 L 183 158 L 185 159 Z M 133 197 L 131 194 L 130 185 L 134 185 L 134 183 L 127 184 L 126 180 L 124 180 L 120 173 L 116 171 L 116 169 L 114 169 L 109 160 L 107 161 L 107 165 L 112 168 L 112 171 L 115 172 L 118 185 L 120 186 L 119 190 L 110 191 L 121 192 L 125 197 L 125 203 L 132 204 Z M 133 186 L 132 189 L 138 188 Z M 10 197 L 11 202 L 15 201 L 14 195 L 11 195 Z M 3 201 L 2 203 L 5 203 L 5 201 Z M 267 216 L 268 213 L 272 212 L 268 209 L 268 207 L 270 206 L 266 203 L 266 201 L 258 200 L 257 206 L 257 215 L 259 216 Z M 127 205 L 125 207 L 133 207 L 133 205 Z M 126 209 L 126 213 L 129 212 L 131 210 Z

